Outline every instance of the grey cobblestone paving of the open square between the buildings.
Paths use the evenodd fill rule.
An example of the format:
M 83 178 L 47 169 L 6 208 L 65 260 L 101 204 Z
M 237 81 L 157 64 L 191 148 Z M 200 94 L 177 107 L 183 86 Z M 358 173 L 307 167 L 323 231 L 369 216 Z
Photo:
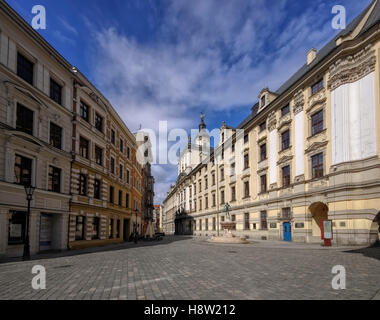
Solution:
M 373 299 L 380 289 L 380 248 L 166 237 L 41 257 L 0 264 L 0 299 Z M 34 265 L 46 268 L 46 290 L 31 287 Z M 331 287 L 335 265 L 346 290 Z

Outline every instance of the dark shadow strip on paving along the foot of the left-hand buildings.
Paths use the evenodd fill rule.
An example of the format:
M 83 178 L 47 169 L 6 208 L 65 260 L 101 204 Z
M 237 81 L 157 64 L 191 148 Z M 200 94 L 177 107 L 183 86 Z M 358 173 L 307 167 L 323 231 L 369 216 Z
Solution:
M 105 246 L 93 247 L 93 248 L 72 249 L 72 250 L 66 250 L 66 251 L 60 251 L 60 252 L 38 253 L 36 255 L 32 255 L 30 261 L 56 259 L 56 258 L 62 258 L 62 257 L 79 256 L 83 254 L 120 251 L 120 250 L 133 249 L 133 248 L 167 245 L 172 242 L 183 241 L 183 240 L 188 240 L 188 239 L 192 239 L 192 236 L 165 236 L 163 240 L 160 240 L 160 241 L 139 240 L 138 243 L 123 242 L 123 243 L 111 244 L 111 245 L 105 245 Z M 5 257 L 0 258 L 0 264 L 9 263 L 9 262 L 23 262 L 23 261 L 22 261 L 22 257 L 5 256 Z

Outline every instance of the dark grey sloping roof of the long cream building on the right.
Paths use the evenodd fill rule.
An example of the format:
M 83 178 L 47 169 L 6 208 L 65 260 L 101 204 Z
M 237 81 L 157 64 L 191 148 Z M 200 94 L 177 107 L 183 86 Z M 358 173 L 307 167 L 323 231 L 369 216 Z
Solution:
M 362 35 L 369 29 L 371 29 L 374 25 L 379 23 L 380 21 L 380 0 L 374 0 L 363 12 L 361 12 L 347 27 L 342 30 L 338 35 L 336 35 L 331 41 L 329 41 L 321 50 L 317 52 L 316 58 L 312 63 L 304 64 L 295 74 L 293 74 L 275 93 L 277 95 L 284 94 L 287 90 L 289 90 L 297 81 L 299 81 L 302 77 L 304 77 L 309 71 L 311 71 L 316 65 L 322 62 L 331 52 L 333 52 L 338 46 L 336 44 L 336 40 L 340 37 L 344 37 L 350 34 L 355 28 L 358 26 L 360 21 L 367 14 L 368 10 L 372 7 L 374 2 L 376 5 L 369 15 L 367 22 L 364 24 L 362 30 L 359 35 Z M 258 104 L 255 104 L 252 108 L 252 113 L 244 119 L 244 121 L 238 126 L 239 129 L 243 128 L 246 124 L 248 124 L 252 119 L 254 119 L 258 114 Z

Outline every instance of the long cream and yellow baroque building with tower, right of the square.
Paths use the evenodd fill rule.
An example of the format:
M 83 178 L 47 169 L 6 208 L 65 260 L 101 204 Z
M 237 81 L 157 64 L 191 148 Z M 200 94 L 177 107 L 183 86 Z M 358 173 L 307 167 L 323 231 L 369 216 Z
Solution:
M 263 89 L 237 128 L 223 124 L 210 157 L 202 118 L 164 201 L 164 231 L 215 235 L 228 203 L 250 238 L 319 242 L 331 219 L 337 244 L 379 239 L 379 22 L 374 1 L 277 91 Z

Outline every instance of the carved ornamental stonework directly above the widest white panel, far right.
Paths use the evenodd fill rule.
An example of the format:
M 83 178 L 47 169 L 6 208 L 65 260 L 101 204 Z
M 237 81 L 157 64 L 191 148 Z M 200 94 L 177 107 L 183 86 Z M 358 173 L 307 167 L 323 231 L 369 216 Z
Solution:
M 335 90 L 343 84 L 355 82 L 375 70 L 376 55 L 372 45 L 358 53 L 339 59 L 330 66 L 328 87 Z

